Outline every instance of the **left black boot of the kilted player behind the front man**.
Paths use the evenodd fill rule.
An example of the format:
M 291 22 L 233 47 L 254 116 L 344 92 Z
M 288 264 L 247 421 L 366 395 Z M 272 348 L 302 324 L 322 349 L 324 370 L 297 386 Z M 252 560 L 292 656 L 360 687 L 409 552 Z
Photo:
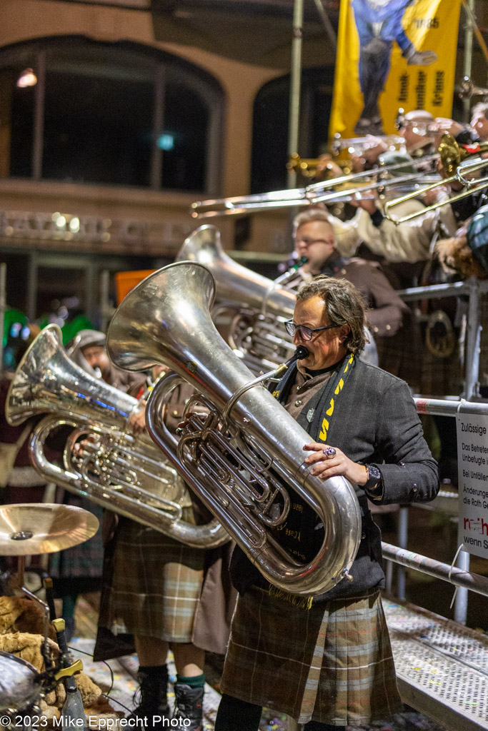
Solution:
M 168 669 L 166 665 L 154 667 L 140 667 L 138 670 L 140 683 L 139 705 L 132 711 L 129 719 L 147 719 L 144 727 L 147 729 L 168 728 L 170 707 L 168 705 Z

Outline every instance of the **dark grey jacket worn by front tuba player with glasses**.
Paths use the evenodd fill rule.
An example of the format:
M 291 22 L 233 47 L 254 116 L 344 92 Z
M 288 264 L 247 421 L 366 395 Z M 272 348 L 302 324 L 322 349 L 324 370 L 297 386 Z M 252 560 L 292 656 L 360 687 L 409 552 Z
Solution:
M 293 373 L 296 374 L 296 366 L 290 375 L 285 374 L 276 390 L 283 390 L 285 379 L 293 381 Z M 297 421 L 312 439 L 318 441 L 318 433 L 312 431 L 315 418 L 312 424 L 307 421 L 309 406 L 309 403 L 304 404 Z M 438 466 L 425 442 L 408 385 L 357 357 L 336 400 L 327 444 L 339 447 L 354 462 L 378 467 L 384 486 L 378 504 L 428 502 L 438 493 Z M 364 490 L 356 487 L 356 495 L 363 524 L 359 551 L 350 569 L 353 580 L 340 581 L 326 594 L 316 596 L 314 601 L 350 596 L 384 585 L 380 531 L 367 510 Z M 311 511 L 307 506 L 303 519 L 304 525 L 310 526 L 308 510 Z M 262 583 L 258 569 L 239 548 L 234 550 L 230 574 L 241 594 L 252 584 Z

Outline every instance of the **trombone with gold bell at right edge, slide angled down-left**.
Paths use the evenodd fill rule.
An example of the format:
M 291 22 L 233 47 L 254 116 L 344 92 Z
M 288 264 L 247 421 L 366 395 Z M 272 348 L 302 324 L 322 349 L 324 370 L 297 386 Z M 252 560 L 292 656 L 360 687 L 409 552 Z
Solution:
M 411 221 L 412 219 L 418 218 L 418 216 L 424 216 L 429 211 L 435 211 L 436 208 L 440 208 L 448 203 L 454 203 L 457 200 L 467 198 L 468 195 L 472 195 L 488 186 L 488 175 L 482 178 L 466 178 L 466 175 L 476 173 L 478 170 L 484 170 L 488 167 L 488 160 L 484 159 L 466 159 L 470 156 L 478 156 L 488 151 L 488 142 L 476 144 L 476 149 L 473 149 L 475 145 L 458 145 L 454 137 L 446 132 L 440 140 L 440 160 L 443 164 L 446 173 L 451 173 L 448 178 L 443 178 L 440 183 L 432 183 L 432 185 L 425 186 L 419 189 L 415 193 L 408 193 L 402 195 L 394 200 L 389 200 L 385 203 L 385 218 L 388 221 L 392 221 L 394 224 L 402 224 L 405 221 Z M 472 149 L 470 149 L 472 148 Z M 441 200 L 432 205 L 427 205 L 421 211 L 415 213 L 409 213 L 408 216 L 402 216 L 401 218 L 395 219 L 391 216 L 391 208 L 396 208 L 398 205 L 405 203 L 418 195 L 424 195 L 425 193 L 435 190 L 439 186 L 446 185 L 448 183 L 461 183 L 465 187 L 465 190 L 452 195 L 446 200 Z

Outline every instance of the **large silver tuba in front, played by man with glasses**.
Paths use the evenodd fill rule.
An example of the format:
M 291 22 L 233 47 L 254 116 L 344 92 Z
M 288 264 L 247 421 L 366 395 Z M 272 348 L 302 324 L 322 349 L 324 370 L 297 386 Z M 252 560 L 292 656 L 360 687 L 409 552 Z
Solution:
M 266 579 L 284 591 L 320 594 L 348 575 L 356 556 L 356 493 L 344 477 L 323 482 L 310 474 L 303 451 L 309 434 L 219 336 L 211 320 L 214 293 L 210 271 L 195 262 L 151 274 L 117 309 L 108 353 L 128 371 L 154 363 L 174 371 L 149 397 L 146 417 L 154 442 Z M 187 404 L 177 439 L 161 415 L 181 379 L 200 395 Z M 196 401 L 206 414 L 198 413 Z M 279 545 L 290 488 L 324 526 L 323 543 L 308 564 Z

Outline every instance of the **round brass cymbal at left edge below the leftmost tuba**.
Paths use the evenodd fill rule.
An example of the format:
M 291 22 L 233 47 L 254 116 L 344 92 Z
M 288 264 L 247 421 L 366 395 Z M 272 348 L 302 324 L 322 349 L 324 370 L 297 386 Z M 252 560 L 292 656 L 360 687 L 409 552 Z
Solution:
M 75 505 L 0 506 L 0 556 L 37 556 L 71 548 L 94 536 L 98 520 Z

